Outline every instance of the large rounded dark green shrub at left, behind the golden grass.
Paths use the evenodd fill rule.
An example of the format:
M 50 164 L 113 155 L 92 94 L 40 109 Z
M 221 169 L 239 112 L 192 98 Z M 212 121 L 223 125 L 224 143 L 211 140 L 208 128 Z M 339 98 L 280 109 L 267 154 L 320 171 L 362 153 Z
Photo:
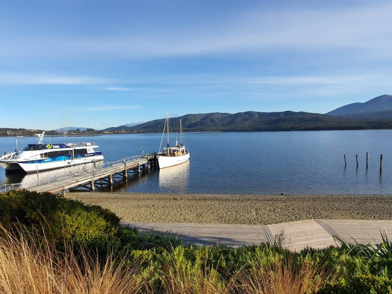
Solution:
M 40 236 L 46 235 L 60 250 L 73 243 L 75 250 L 94 250 L 98 255 L 123 248 L 179 245 L 177 237 L 122 227 L 120 219 L 108 209 L 51 193 L 20 190 L 0 194 L 0 223 L 10 229 L 22 225 Z

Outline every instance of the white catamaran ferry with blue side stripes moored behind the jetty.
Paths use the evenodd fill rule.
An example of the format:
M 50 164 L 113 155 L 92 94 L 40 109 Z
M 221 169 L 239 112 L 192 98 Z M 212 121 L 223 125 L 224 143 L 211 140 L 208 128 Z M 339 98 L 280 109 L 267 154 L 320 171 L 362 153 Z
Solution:
M 94 143 L 78 144 L 43 144 L 45 131 L 38 136 L 38 144 L 28 144 L 22 151 L 7 153 L 0 156 L 0 166 L 5 172 L 37 172 L 48 171 L 66 166 L 102 161 L 102 152 Z

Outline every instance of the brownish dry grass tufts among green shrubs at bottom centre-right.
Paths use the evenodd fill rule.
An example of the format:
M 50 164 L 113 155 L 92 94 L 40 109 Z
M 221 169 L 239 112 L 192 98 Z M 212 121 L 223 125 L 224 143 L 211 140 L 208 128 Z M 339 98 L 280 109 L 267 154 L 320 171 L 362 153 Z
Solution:
M 276 254 L 274 258 L 275 249 L 267 249 L 269 254 L 259 255 L 231 273 L 220 268 L 219 263 L 212 268 L 206 260 L 191 263 L 173 258 L 160 273 L 163 293 L 308 294 L 325 285 L 329 273 L 322 263 L 315 264 L 306 258 L 299 261 L 290 252 L 282 258 L 276 258 Z

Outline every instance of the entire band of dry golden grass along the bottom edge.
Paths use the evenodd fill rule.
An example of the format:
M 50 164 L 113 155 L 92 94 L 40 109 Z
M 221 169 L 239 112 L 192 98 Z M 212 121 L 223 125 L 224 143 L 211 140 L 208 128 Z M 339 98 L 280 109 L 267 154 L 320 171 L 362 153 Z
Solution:
M 113 256 L 103 262 L 94 254 L 76 256 L 72 245 L 59 252 L 47 238 L 23 230 L 0 225 L 0 236 L 1 294 L 307 294 L 327 280 L 319 265 L 298 262 L 294 253 L 271 260 L 260 255 L 234 272 L 169 254 L 144 271 Z

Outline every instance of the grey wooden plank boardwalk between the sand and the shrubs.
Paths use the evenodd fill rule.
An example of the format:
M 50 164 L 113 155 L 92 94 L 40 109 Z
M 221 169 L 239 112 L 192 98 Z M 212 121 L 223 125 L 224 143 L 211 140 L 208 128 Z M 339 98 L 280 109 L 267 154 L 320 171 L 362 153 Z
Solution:
M 279 243 L 290 250 L 299 251 L 307 246 L 325 248 L 336 245 L 334 235 L 355 244 L 380 243 L 381 232 L 392 236 L 392 221 L 374 220 L 305 220 L 270 225 L 215 224 L 215 223 L 151 223 L 122 222 L 139 230 L 181 236 L 184 244 L 228 245 L 238 247 Z M 355 241 L 354 241 L 355 240 Z

